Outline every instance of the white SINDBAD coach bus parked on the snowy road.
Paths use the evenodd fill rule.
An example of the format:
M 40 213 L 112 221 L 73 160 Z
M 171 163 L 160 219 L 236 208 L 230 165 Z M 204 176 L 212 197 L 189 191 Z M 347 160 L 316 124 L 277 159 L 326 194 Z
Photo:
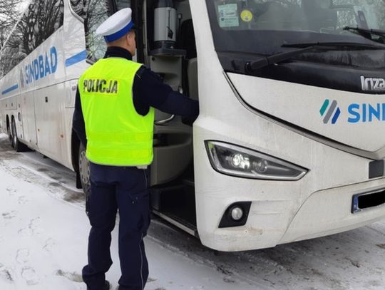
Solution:
M 37 0 L 1 48 L 0 128 L 77 172 L 77 79 L 94 31 L 131 6 L 136 59 L 200 100 L 193 128 L 157 112 L 156 214 L 222 251 L 385 217 L 382 0 Z M 199 86 L 198 86 L 199 84 Z

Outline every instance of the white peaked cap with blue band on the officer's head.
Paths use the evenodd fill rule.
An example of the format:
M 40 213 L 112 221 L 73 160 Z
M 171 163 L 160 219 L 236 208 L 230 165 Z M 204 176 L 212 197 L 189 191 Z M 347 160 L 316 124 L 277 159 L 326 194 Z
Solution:
M 96 34 L 103 36 L 106 42 L 116 41 L 120 37 L 133 28 L 132 21 L 133 11 L 130 8 L 119 10 L 104 21 L 101 26 L 96 29 Z

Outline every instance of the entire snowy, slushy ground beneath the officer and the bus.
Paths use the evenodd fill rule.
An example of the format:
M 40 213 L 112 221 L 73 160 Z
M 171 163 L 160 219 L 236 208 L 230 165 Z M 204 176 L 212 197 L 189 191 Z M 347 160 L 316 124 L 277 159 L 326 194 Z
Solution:
M 89 224 L 74 178 L 36 152 L 14 152 L 0 134 L 1 290 L 86 290 Z M 217 253 L 155 218 L 145 247 L 148 290 L 385 289 L 385 220 L 274 249 Z M 115 290 L 117 231 L 111 252 Z

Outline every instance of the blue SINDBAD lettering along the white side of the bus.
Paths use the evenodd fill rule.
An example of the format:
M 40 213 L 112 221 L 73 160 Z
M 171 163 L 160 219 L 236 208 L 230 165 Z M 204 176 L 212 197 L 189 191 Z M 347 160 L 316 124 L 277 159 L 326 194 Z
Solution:
M 51 73 L 56 73 L 58 68 L 58 52 L 56 47 L 52 46 L 49 51 L 35 58 L 26 65 L 25 75 L 26 84 L 33 83 L 40 78 L 45 78 Z

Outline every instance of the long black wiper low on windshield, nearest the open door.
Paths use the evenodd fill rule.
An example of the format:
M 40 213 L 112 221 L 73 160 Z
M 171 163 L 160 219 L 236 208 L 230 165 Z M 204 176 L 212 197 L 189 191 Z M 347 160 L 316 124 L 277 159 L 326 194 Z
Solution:
M 287 43 L 283 44 L 282 47 L 287 48 L 299 48 L 296 51 L 288 51 L 284 53 L 277 53 L 272 56 L 265 56 L 258 61 L 249 61 L 245 65 L 245 70 L 249 73 L 257 71 L 265 66 L 271 66 L 275 63 L 282 61 L 288 61 L 294 56 L 299 56 L 302 53 L 308 51 L 331 51 L 336 48 L 347 47 L 347 48 L 369 48 L 369 49 L 385 49 L 385 46 L 379 46 L 369 43 L 356 43 L 356 42 L 314 42 L 314 43 Z

